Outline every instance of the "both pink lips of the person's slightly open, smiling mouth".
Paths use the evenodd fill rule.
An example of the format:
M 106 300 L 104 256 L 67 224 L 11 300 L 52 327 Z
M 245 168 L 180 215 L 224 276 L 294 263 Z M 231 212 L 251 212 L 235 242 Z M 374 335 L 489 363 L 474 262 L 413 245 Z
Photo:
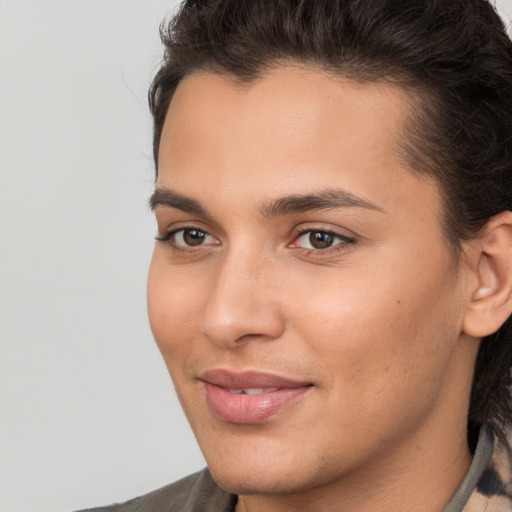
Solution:
M 210 410 L 229 423 L 261 423 L 293 404 L 308 392 L 312 384 L 259 372 L 236 373 L 209 370 L 201 375 Z M 256 395 L 234 394 L 229 390 L 260 389 Z

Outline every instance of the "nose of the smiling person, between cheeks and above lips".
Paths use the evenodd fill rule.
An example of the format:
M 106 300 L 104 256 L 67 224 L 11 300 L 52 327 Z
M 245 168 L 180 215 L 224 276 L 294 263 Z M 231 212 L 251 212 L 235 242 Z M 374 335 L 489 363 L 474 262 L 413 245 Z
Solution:
M 285 320 L 269 260 L 263 255 L 232 252 L 216 270 L 200 320 L 201 333 L 213 344 L 227 348 L 249 340 L 279 338 Z

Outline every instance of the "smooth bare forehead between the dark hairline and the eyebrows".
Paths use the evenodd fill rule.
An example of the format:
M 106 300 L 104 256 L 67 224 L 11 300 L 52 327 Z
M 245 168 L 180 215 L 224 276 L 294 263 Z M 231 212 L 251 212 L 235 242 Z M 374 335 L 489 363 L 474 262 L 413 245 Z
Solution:
M 400 156 L 412 103 L 392 83 L 358 83 L 318 69 L 283 67 L 243 84 L 197 73 L 171 102 L 159 186 L 188 194 L 203 183 L 194 189 L 198 199 L 236 190 L 260 200 L 334 185 L 385 208 L 428 181 Z M 272 187 L 262 187 L 262 178 Z

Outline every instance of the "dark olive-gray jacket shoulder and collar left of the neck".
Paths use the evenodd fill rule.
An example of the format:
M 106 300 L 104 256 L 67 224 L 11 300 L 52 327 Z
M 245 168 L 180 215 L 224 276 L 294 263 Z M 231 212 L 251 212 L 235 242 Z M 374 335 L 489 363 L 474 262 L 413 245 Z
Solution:
M 126 503 L 81 512 L 231 512 L 235 503 L 204 469 Z

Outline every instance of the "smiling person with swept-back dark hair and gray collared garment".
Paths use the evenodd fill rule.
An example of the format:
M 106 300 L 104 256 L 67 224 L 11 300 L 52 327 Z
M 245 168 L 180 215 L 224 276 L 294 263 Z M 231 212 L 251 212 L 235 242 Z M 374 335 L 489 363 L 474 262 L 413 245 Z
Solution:
M 512 42 L 486 0 L 186 0 L 151 328 L 208 468 L 98 511 L 512 510 Z

